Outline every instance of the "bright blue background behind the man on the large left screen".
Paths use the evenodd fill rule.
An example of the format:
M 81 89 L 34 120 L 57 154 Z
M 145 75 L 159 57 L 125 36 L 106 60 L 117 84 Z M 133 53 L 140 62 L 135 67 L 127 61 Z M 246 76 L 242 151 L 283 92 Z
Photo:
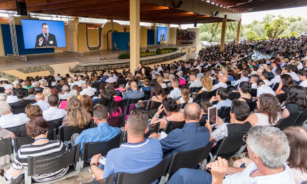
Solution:
M 32 19 L 21 19 L 22 30 L 25 42 L 25 48 L 35 48 L 36 36 L 43 34 L 42 24 L 46 23 L 49 27 L 49 34 L 53 34 L 56 37 L 56 46 L 57 47 L 66 47 L 65 40 L 65 29 L 63 21 L 46 21 L 46 20 L 32 20 Z M 50 35 L 49 35 L 49 38 Z M 53 46 L 52 43 L 55 42 L 52 40 L 52 43 L 49 43 L 48 46 Z M 55 46 L 55 45 L 54 45 Z M 40 48 L 43 49 L 43 48 Z

